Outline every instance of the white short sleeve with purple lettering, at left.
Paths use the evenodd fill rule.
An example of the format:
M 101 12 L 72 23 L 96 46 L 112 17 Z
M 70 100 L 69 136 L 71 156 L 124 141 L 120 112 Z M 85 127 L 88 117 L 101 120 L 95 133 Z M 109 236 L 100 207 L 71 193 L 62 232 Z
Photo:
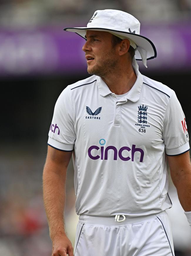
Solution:
M 48 133 L 48 145 L 53 148 L 72 151 L 76 140 L 74 130 L 74 110 L 71 89 L 66 87 L 58 97 L 52 123 Z

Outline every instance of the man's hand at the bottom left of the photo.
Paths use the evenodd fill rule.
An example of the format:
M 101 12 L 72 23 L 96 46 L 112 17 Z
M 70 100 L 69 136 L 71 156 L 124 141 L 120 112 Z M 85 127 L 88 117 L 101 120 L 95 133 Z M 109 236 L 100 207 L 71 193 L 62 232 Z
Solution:
M 55 237 L 52 241 L 52 256 L 74 256 L 73 247 L 66 235 Z

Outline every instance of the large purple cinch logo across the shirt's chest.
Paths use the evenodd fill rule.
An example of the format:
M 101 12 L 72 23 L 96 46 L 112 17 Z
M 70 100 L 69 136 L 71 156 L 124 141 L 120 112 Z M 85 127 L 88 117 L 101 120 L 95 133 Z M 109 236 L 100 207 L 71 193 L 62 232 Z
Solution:
M 143 162 L 143 156 L 144 156 L 144 151 L 143 149 L 140 149 L 140 148 L 136 148 L 136 145 L 132 145 L 132 148 L 130 149 L 129 147 L 122 147 L 119 149 L 119 151 L 116 149 L 116 147 L 114 146 L 107 146 L 105 149 L 104 149 L 104 146 L 105 145 L 105 139 L 100 139 L 99 141 L 99 144 L 101 145 L 101 147 L 98 147 L 96 145 L 93 145 L 91 147 L 89 147 L 88 149 L 88 156 L 93 159 L 93 160 L 97 160 L 97 159 L 101 159 L 101 160 L 108 160 L 108 151 L 109 150 L 112 150 L 113 151 L 113 160 L 117 160 L 118 156 L 121 160 L 123 161 L 129 161 L 131 159 L 132 162 L 134 162 L 134 155 L 135 155 L 135 152 L 137 152 L 136 154 L 140 154 L 140 161 L 139 162 Z M 95 151 L 92 153 L 92 150 L 93 149 L 96 149 L 98 151 L 98 154 L 101 154 L 101 156 L 99 156 L 98 154 L 96 155 L 95 154 Z M 131 151 L 131 158 L 128 156 L 128 157 L 124 157 L 122 154 L 123 154 L 123 151 Z M 93 154 L 93 155 L 92 155 Z M 95 155 L 94 155 L 95 154 Z M 110 153 L 111 154 L 111 153 Z

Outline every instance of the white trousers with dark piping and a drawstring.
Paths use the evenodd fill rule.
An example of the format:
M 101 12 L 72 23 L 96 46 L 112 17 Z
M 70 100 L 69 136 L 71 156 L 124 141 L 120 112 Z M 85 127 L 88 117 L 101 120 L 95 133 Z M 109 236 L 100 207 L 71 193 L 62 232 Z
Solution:
M 115 216 L 82 214 L 76 229 L 74 256 L 98 255 L 174 256 L 167 213 L 126 217 L 123 222 L 115 222 Z

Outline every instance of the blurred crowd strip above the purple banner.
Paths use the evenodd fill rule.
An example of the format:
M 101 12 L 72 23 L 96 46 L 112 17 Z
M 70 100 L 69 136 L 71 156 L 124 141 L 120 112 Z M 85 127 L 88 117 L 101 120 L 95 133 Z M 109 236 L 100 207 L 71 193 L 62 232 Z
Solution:
M 0 26 L 37 26 L 73 21 L 84 23 L 98 9 L 120 9 L 142 22 L 187 20 L 190 0 L 1 0 Z

